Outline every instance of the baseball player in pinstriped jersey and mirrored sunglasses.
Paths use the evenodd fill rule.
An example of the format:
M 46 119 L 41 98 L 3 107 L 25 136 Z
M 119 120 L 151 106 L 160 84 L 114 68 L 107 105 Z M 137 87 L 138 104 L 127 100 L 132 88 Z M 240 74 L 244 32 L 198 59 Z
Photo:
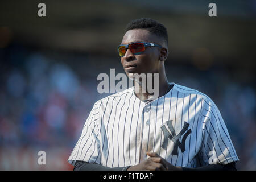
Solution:
M 128 76 L 158 73 L 158 97 L 135 93 L 143 88 L 134 81 L 97 101 L 69 156 L 74 170 L 236 170 L 239 159 L 218 107 L 207 95 L 168 82 L 163 24 L 133 20 L 118 53 Z

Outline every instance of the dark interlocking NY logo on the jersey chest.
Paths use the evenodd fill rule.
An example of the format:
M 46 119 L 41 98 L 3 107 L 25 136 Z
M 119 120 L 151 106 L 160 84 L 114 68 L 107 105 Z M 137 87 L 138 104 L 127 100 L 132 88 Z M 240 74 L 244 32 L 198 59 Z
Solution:
M 171 131 L 171 133 L 169 133 L 169 131 L 166 129 L 166 126 L 161 127 L 163 134 L 164 134 L 164 142 L 162 144 L 162 147 L 164 148 L 164 150 L 167 150 L 167 144 L 168 144 L 168 138 L 169 138 L 170 140 L 172 140 L 172 142 L 174 142 L 174 150 L 172 151 L 172 155 L 178 155 L 178 152 L 177 152 L 178 147 L 180 147 L 181 152 L 185 151 L 185 141 L 186 141 L 188 135 L 191 134 L 191 129 L 189 129 L 185 133 L 185 131 L 188 129 L 189 124 L 187 122 L 184 122 L 184 126 L 183 126 L 182 130 L 180 131 L 179 134 L 176 135 L 176 133 L 174 131 L 174 127 L 172 127 L 172 120 L 167 121 L 166 123 L 167 123 L 168 129 Z M 183 134 L 184 134 L 184 136 L 180 143 L 179 139 Z

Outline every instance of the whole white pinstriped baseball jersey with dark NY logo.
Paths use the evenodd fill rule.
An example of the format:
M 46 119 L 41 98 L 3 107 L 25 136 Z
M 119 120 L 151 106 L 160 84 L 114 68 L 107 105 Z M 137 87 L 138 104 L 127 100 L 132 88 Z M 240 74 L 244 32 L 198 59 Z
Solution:
M 97 101 L 68 162 L 133 166 L 149 158 L 147 151 L 192 168 L 239 160 L 214 102 L 174 84 L 148 104 L 135 96 L 134 87 Z

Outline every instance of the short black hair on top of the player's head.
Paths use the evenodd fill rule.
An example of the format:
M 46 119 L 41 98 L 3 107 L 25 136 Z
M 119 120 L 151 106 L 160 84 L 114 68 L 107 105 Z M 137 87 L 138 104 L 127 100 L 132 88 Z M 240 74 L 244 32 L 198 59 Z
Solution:
M 161 38 L 163 38 L 164 42 L 166 42 L 166 45 L 168 46 L 167 29 L 162 23 L 159 23 L 158 21 L 151 18 L 139 18 L 132 20 L 130 23 L 128 23 L 125 32 L 140 28 L 146 29 L 152 34 L 155 34 L 156 36 L 160 36 Z

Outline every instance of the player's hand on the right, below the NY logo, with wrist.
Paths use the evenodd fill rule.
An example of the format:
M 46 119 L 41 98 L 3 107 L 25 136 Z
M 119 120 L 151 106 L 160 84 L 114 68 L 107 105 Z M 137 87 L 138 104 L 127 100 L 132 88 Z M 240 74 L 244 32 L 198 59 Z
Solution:
M 150 156 L 150 160 L 153 162 L 163 164 L 163 166 L 167 169 L 167 171 L 182 171 L 181 167 L 176 167 L 172 165 L 171 163 L 168 163 L 164 158 L 159 156 L 156 152 L 147 152 L 147 155 Z

